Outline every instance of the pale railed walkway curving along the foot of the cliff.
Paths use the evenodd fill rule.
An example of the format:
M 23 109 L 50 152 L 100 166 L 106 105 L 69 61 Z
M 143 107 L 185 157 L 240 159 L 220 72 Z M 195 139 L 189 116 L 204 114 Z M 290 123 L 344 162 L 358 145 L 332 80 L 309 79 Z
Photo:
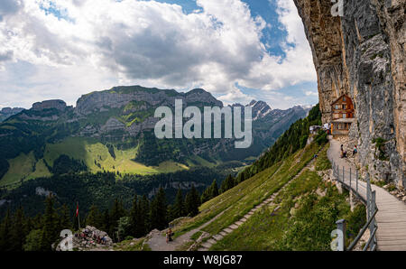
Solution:
M 347 172 L 349 168 L 355 172 L 355 165 L 340 158 L 340 143 L 337 140 L 330 140 L 328 149 L 328 159 L 338 164 L 340 168 L 345 168 L 345 181 L 349 185 Z M 351 181 L 351 186 L 355 188 L 355 180 Z M 366 198 L 366 183 L 358 182 L 360 195 Z M 376 205 L 379 209 L 376 214 L 378 230 L 376 239 L 379 250 L 406 250 L 406 204 L 396 199 L 388 191 L 372 185 L 376 191 Z

